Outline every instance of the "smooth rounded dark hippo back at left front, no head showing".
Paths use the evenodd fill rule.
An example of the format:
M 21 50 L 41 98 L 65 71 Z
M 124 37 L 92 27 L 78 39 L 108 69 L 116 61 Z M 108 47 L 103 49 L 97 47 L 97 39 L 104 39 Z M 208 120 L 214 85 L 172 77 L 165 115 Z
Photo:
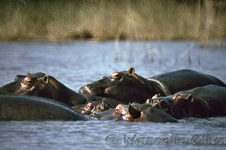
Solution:
M 0 120 L 81 120 L 87 118 L 69 106 L 35 96 L 0 95 Z

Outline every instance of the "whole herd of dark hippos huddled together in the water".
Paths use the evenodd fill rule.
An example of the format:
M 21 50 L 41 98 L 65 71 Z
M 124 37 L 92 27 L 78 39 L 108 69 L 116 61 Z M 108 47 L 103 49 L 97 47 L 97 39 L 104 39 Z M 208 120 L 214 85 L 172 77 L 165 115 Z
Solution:
M 0 120 L 177 122 L 216 116 L 226 116 L 225 84 L 188 69 L 144 78 L 130 68 L 78 93 L 41 72 L 17 75 L 0 87 Z

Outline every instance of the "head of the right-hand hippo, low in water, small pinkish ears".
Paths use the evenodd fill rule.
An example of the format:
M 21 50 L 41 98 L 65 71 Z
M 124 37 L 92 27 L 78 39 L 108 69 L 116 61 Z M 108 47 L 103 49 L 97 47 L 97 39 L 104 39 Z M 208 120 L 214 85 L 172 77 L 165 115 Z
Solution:
M 188 95 L 186 98 L 184 98 L 180 94 L 176 94 L 173 98 L 154 97 L 149 101 L 149 104 L 174 116 L 175 118 L 181 119 L 184 117 L 191 116 L 192 102 L 193 97 L 191 94 Z

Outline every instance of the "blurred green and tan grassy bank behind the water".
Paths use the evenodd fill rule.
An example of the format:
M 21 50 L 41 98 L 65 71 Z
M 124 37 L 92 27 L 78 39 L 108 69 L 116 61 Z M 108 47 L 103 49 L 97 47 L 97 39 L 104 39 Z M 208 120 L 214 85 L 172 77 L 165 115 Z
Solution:
M 0 0 L 0 40 L 225 39 L 224 0 Z

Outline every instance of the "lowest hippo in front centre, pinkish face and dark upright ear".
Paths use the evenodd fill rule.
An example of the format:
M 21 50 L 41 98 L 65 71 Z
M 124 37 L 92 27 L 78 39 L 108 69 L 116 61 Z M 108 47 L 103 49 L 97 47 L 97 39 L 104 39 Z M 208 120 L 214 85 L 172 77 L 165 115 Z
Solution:
M 129 103 L 129 105 L 119 104 L 115 109 L 94 113 L 90 118 L 131 122 L 177 122 L 171 115 L 145 103 Z

